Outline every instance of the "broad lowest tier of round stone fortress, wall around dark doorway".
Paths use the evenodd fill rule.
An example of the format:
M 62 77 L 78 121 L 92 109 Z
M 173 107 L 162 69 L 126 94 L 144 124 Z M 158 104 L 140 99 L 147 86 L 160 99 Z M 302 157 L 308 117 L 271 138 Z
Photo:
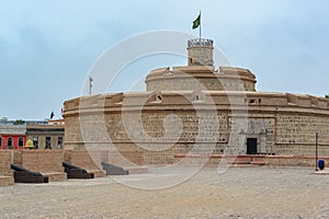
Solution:
M 195 95 L 198 95 L 197 101 Z M 240 108 L 242 117 L 248 116 L 246 137 L 259 139 L 259 151 L 260 141 L 265 137 L 266 153 L 314 154 L 315 132 L 318 131 L 319 151 L 329 154 L 329 101 L 321 97 L 262 92 L 185 91 L 179 94 L 166 91 L 86 96 L 80 110 L 79 99 L 65 103 L 66 149 L 84 148 L 84 143 L 101 147 L 111 140 L 124 157 L 136 158 L 136 163 L 169 162 L 174 153 L 190 151 L 197 140 L 201 120 L 207 131 L 218 119 L 218 135 L 202 134 L 203 138 L 198 140 L 204 145 L 217 142 L 214 151 L 223 153 L 226 147 L 237 143 L 228 136 L 230 107 L 234 107 Z M 140 103 L 145 104 L 140 106 Z M 248 112 L 242 107 L 246 104 Z M 214 108 L 217 112 L 212 112 Z M 164 127 L 171 131 L 168 137 Z M 260 134 L 262 128 L 266 129 L 265 136 Z M 166 143 L 172 147 L 163 146 L 166 150 L 162 150 Z M 157 148 L 160 151 L 152 151 Z

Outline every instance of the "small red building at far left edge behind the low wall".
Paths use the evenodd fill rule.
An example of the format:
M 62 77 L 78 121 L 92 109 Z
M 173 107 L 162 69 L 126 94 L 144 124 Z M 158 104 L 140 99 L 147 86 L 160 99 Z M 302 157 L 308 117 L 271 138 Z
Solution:
M 0 149 L 23 149 L 26 125 L 0 125 Z

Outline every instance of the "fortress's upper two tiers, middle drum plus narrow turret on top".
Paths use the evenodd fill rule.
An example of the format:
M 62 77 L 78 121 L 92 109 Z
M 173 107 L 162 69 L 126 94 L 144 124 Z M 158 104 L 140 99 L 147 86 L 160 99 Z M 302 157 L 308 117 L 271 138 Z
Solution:
M 213 44 L 206 38 L 188 41 L 188 66 L 152 70 L 146 77 L 147 91 L 256 91 L 256 77 L 248 69 L 215 69 Z

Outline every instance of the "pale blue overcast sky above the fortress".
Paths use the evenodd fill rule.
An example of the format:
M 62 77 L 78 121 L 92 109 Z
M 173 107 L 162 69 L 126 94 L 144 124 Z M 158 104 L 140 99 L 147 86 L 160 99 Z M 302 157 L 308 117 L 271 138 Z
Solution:
M 200 10 L 203 37 L 232 66 L 250 69 L 258 90 L 329 93 L 327 0 L 0 0 L 0 117 L 44 119 L 52 111 L 59 117 L 107 48 L 150 31 L 198 34 L 191 27 Z M 132 72 L 137 78 L 185 64 L 141 61 L 143 72 Z M 122 80 L 115 88 L 129 90 Z

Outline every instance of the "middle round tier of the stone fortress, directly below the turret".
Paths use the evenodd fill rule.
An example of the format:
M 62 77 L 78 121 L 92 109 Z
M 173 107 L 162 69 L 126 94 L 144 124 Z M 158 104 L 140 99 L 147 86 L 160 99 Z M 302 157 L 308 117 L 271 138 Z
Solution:
M 256 78 L 246 70 L 211 67 L 157 69 L 146 78 L 147 91 L 254 91 Z

